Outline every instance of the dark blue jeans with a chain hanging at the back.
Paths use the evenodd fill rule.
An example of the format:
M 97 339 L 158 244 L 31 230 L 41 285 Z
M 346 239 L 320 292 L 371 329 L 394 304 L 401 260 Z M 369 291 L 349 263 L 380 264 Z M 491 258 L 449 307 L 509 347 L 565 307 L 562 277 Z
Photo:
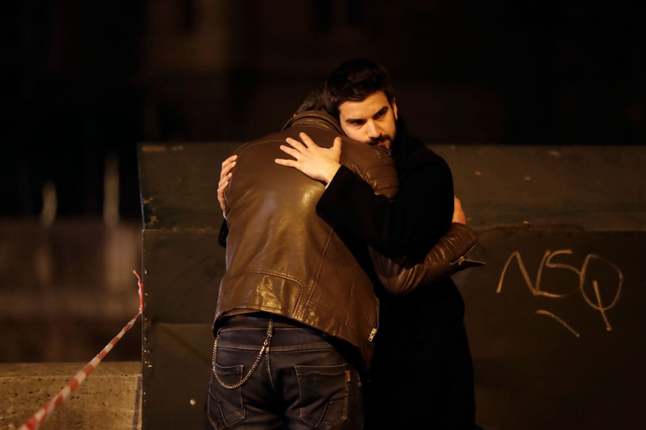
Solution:
M 234 316 L 218 329 L 216 372 L 225 385 L 249 372 L 269 319 Z M 326 336 L 284 318 L 272 318 L 269 332 L 267 351 L 240 387 L 225 388 L 211 374 L 207 428 L 361 429 L 359 373 Z

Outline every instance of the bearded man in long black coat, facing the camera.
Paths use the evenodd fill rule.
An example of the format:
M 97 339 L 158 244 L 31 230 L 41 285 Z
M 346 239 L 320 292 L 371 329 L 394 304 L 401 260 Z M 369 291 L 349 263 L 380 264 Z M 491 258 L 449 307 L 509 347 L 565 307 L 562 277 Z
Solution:
M 370 60 L 346 61 L 329 76 L 324 101 L 348 137 L 391 151 L 400 182 L 396 200 L 375 195 L 326 150 L 294 139 L 282 149 L 295 160 L 276 163 L 324 181 L 318 214 L 380 254 L 426 255 L 452 221 L 452 175 L 444 159 L 408 136 L 388 73 Z M 366 422 L 372 428 L 478 428 L 464 302 L 452 280 L 408 296 L 378 295 L 382 329 Z

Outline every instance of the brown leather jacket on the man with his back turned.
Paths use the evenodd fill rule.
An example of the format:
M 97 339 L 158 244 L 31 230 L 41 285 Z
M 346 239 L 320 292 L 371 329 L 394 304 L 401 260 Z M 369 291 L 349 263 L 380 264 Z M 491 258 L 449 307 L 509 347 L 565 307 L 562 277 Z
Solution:
M 448 276 L 448 271 L 438 271 L 466 251 L 464 243 L 472 245 L 475 235 L 470 230 L 453 232 L 457 237 L 452 243 L 459 243 L 461 249 L 449 246 L 446 252 L 432 251 L 417 266 L 374 252 L 371 262 L 364 244 L 335 231 L 316 214 L 324 185 L 274 162 L 285 157 L 280 145 L 287 137 L 298 139 L 299 132 L 324 147 L 342 135 L 328 114 L 305 112 L 290 119 L 281 132 L 234 152 L 238 160 L 225 194 L 227 272 L 220 284 L 214 327 L 224 312 L 233 309 L 272 312 L 355 345 L 369 367 L 371 340 L 379 329 L 375 278 L 369 276 L 374 274 L 372 267 L 389 291 L 408 292 Z M 341 163 L 368 181 L 376 193 L 390 198 L 397 193 L 397 171 L 385 150 L 344 137 Z M 430 274 L 433 267 L 435 275 Z

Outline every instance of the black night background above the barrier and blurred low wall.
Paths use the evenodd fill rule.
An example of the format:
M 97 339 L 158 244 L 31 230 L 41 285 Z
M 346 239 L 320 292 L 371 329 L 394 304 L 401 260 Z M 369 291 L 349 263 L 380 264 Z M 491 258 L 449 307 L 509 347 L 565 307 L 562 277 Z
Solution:
M 637 3 L 637 2 L 636 2 Z M 105 157 L 140 219 L 138 141 L 245 141 L 340 61 L 390 70 L 427 143 L 635 145 L 643 4 L 551 1 L 36 1 L 3 4 L 0 216 L 98 216 Z

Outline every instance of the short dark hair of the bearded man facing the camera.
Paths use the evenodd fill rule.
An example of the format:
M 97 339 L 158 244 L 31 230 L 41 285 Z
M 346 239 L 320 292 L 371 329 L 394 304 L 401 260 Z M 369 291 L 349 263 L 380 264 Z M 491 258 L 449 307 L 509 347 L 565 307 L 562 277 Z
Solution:
M 362 101 L 366 97 L 383 91 L 393 105 L 395 91 L 388 72 L 374 61 L 353 58 L 341 63 L 328 77 L 322 97 L 326 111 L 339 119 L 339 105 L 344 101 Z

